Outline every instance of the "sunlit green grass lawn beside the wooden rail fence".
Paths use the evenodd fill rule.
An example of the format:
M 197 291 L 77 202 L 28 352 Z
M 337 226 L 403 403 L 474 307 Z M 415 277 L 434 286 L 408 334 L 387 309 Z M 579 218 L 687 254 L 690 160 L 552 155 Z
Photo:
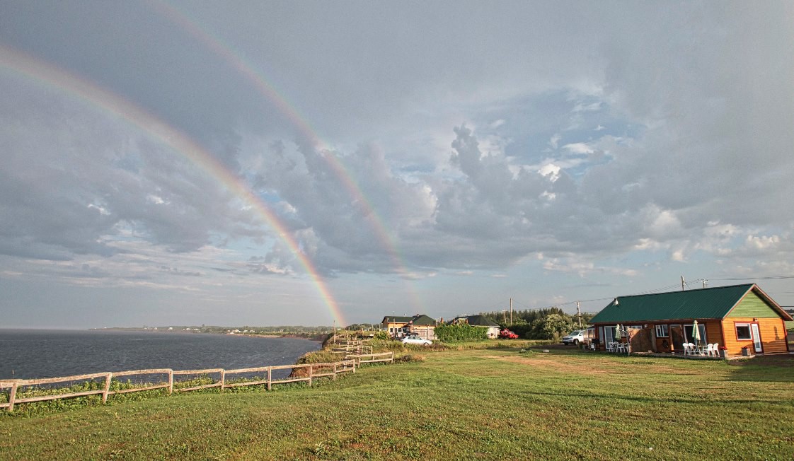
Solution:
M 0 416 L 0 459 L 792 459 L 794 359 L 426 352 L 337 382 Z

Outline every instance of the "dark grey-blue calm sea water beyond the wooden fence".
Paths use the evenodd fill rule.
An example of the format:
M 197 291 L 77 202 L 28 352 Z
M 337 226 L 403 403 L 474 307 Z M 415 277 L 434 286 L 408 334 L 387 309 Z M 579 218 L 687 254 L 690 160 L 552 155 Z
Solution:
M 103 371 L 265 367 L 295 363 L 317 341 L 183 332 L 0 329 L 0 379 Z M 287 371 L 288 373 L 288 371 Z

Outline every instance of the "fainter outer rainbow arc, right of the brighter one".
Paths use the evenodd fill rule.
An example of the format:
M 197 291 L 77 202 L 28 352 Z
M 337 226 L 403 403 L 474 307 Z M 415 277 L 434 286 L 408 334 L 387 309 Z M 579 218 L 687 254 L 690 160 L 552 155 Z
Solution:
M 400 257 L 399 252 L 397 252 L 394 239 L 386 230 L 387 226 L 384 225 L 384 220 L 376 212 L 375 207 L 372 206 L 372 202 L 353 179 L 353 174 L 345 168 L 345 165 L 337 156 L 333 155 L 333 148 L 318 136 L 317 131 L 310 125 L 309 121 L 306 120 L 306 117 L 303 117 L 299 111 L 295 109 L 294 105 L 287 102 L 287 98 L 276 91 L 272 83 L 268 82 L 268 79 L 265 79 L 263 75 L 256 72 L 252 64 L 246 63 L 238 53 L 233 52 L 233 48 L 228 44 L 224 44 L 218 37 L 207 33 L 197 25 L 195 21 L 191 21 L 186 14 L 165 2 L 152 1 L 149 2 L 149 5 L 151 5 L 156 12 L 164 17 L 168 17 L 169 20 L 181 27 L 195 38 L 195 40 L 204 44 L 214 52 L 216 56 L 225 60 L 229 66 L 233 67 L 240 75 L 243 75 L 260 94 L 268 98 L 268 101 L 272 102 L 272 104 L 279 109 L 279 112 L 287 117 L 292 125 L 299 129 L 299 132 L 310 142 L 312 148 L 320 153 L 322 159 L 326 160 L 331 171 L 333 171 L 333 175 L 335 175 L 345 187 L 345 190 L 347 190 L 350 197 L 353 198 L 353 201 L 358 202 L 360 206 L 362 206 L 365 212 L 364 215 L 367 217 L 373 232 L 375 232 L 377 239 L 380 241 L 381 247 L 388 253 L 397 274 L 403 277 L 410 275 L 403 259 Z M 418 296 L 413 290 L 413 287 L 407 282 L 406 287 L 415 312 L 422 312 L 420 303 L 418 302 Z

